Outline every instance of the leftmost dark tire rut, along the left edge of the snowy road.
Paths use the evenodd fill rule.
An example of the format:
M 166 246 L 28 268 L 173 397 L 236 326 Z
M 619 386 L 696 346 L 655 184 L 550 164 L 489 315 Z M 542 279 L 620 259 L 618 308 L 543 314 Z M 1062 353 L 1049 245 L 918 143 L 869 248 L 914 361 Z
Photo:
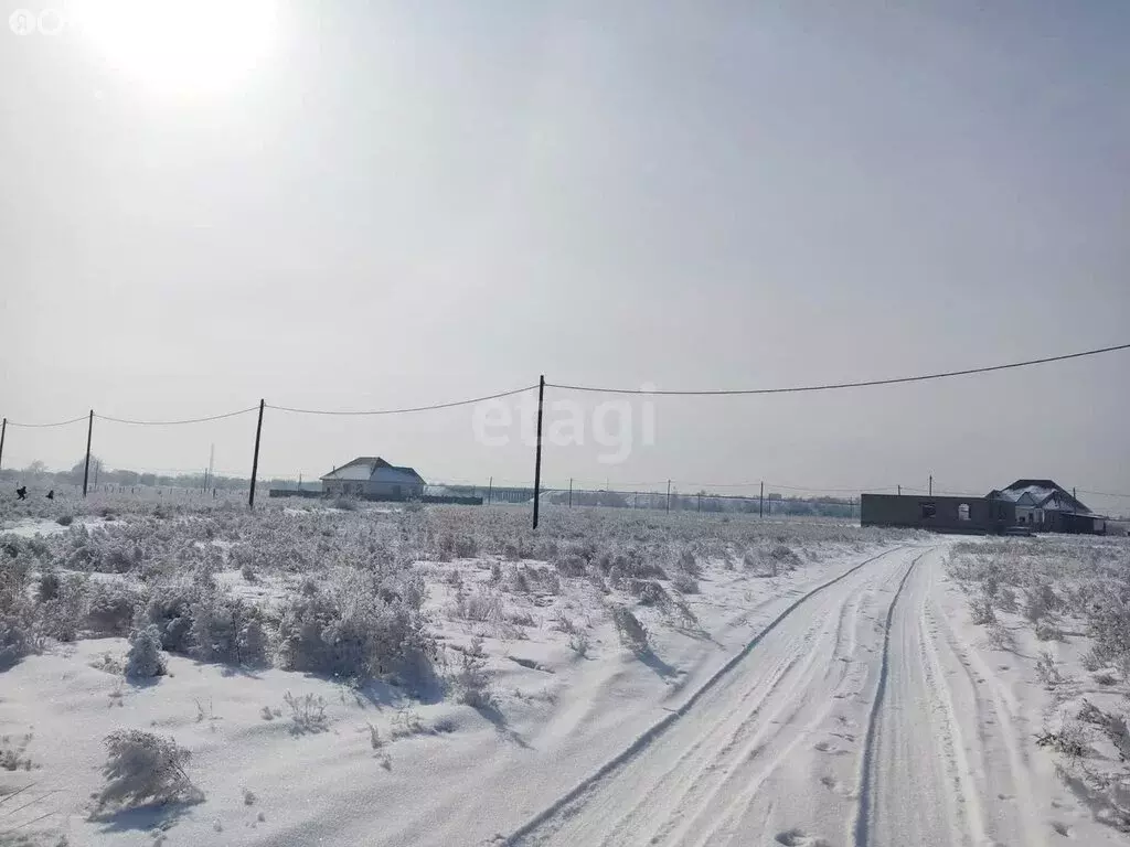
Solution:
M 890 550 L 885 550 L 884 552 L 872 556 L 859 565 L 855 565 L 838 576 L 828 579 L 820 585 L 806 592 L 792 603 L 790 603 L 785 609 L 777 614 L 767 626 L 765 626 L 753 639 L 750 639 L 741 650 L 734 654 L 725 664 L 723 664 L 718 671 L 715 671 L 710 679 L 707 679 L 690 697 L 683 702 L 681 706 L 675 710 L 667 714 L 645 732 L 643 732 L 632 744 L 626 749 L 620 751 L 617 756 L 609 759 L 605 765 L 598 768 L 593 774 L 585 777 L 576 786 L 570 789 L 565 795 L 558 798 L 556 802 L 550 804 L 547 809 L 539 812 L 537 815 L 531 818 L 527 823 L 515 830 L 508 838 L 503 839 L 506 845 L 521 845 L 529 841 L 529 839 L 538 833 L 544 827 L 550 823 L 555 819 L 570 818 L 579 812 L 577 806 L 583 803 L 585 795 L 590 794 L 596 789 L 596 787 L 608 779 L 612 778 L 620 769 L 632 762 L 634 759 L 640 757 L 645 750 L 647 750 L 658 739 L 660 739 L 668 730 L 684 719 L 695 706 L 716 688 L 724 679 L 730 676 L 734 669 L 737 669 L 749 654 L 759 645 L 762 641 L 770 636 L 774 630 L 776 630 L 785 620 L 792 615 L 801 605 L 808 603 L 815 597 L 818 597 L 826 590 L 837 585 L 838 583 L 847 579 L 853 574 L 860 571 L 862 568 L 878 561 L 892 553 L 907 549 L 907 545 L 898 545 L 892 548 Z M 904 578 L 905 579 L 905 578 Z

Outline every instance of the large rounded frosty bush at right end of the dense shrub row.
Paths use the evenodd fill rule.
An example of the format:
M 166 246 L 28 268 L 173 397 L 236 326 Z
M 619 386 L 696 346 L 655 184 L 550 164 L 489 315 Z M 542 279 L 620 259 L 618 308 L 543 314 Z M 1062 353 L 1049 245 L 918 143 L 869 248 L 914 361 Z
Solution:
M 279 622 L 284 667 L 346 678 L 415 673 L 435 655 L 412 580 L 381 583 L 356 570 L 288 597 Z

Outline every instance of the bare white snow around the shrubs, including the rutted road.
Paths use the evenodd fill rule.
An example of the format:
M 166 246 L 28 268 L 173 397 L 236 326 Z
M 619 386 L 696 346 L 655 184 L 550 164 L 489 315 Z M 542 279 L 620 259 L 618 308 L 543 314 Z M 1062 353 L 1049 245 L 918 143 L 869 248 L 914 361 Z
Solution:
M 339 527 L 415 519 L 324 514 Z M 496 517 L 473 514 L 486 538 Z M 677 519 L 614 532 L 659 534 Z M 582 525 L 601 532 L 601 521 Z M 949 562 L 1000 542 L 958 553 L 955 539 L 755 519 L 751 533 L 799 561 L 759 576 L 770 560 L 742 566 L 707 543 L 711 526 L 720 539 L 746 532 L 696 530 L 701 593 L 668 588 L 692 617 L 643 603 L 628 579 L 557 576 L 546 558 L 418 558 L 444 661 L 481 638 L 494 705 L 479 709 L 438 691 L 180 655 L 167 676 L 127 682 L 115 672 L 124 639 L 51 645 L 0 673 L 0 736 L 20 768 L 0 769 L 0 833 L 18 827 L 43 845 L 63 835 L 72 847 L 1124 842 L 1036 740 L 1083 698 L 1119 708 L 1125 687 L 1096 681 L 1116 669 L 1083 671 L 1087 639 L 1072 636 L 1051 648 L 1076 682 L 1050 691 L 1036 669 L 1048 645 L 1019 618 L 1008 652 L 973 623 L 972 590 Z M 214 541 L 225 556 L 240 544 Z M 257 564 L 212 578 L 271 608 L 304 576 Z M 609 603 L 640 618 L 646 650 L 621 646 Z M 296 721 L 287 700 L 307 695 L 324 721 Z M 119 728 L 188 748 L 203 801 L 92 818 L 102 740 Z

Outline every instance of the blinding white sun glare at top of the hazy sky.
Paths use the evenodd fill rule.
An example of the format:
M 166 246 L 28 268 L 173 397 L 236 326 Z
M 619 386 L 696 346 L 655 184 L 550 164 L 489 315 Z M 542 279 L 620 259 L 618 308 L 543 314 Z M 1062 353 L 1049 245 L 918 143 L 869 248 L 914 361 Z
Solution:
M 162 91 L 232 87 L 275 37 L 273 0 L 79 0 L 84 36 L 105 61 Z

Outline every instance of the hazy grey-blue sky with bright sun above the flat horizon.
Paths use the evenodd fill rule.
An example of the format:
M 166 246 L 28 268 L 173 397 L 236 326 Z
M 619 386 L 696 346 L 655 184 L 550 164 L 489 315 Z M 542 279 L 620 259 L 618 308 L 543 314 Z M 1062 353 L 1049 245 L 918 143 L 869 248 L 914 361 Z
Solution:
M 1125 3 L 201 0 L 169 26 L 3 2 L 49 29 L 0 32 L 12 421 L 405 408 L 542 374 L 776 387 L 1130 341 Z M 572 443 L 544 477 L 1130 492 L 1128 374 L 1121 352 L 636 398 L 631 426 L 621 398 L 550 387 Z M 528 482 L 513 400 L 510 426 L 269 408 L 260 466 Z M 255 422 L 96 419 L 94 452 L 199 470 L 215 444 L 247 474 Z M 70 466 L 85 439 L 10 427 L 3 465 Z

